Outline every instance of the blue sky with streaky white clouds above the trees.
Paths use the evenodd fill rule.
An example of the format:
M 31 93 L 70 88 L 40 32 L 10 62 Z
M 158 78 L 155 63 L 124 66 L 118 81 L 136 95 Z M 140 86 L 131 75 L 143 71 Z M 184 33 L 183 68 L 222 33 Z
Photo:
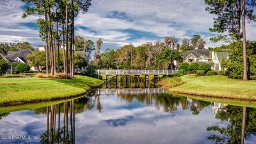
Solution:
M 37 16 L 22 19 L 26 4 L 19 0 L 0 1 L 0 43 L 27 41 L 34 47 L 44 44 L 39 37 Z M 214 15 L 205 11 L 203 0 L 92 0 L 87 13 L 75 18 L 75 35 L 97 41 L 103 38 L 102 51 L 117 49 L 126 44 L 138 46 L 155 42 L 165 36 L 191 38 L 201 35 L 209 38 L 216 35 L 209 31 Z M 256 23 L 247 22 L 246 39 L 255 40 Z

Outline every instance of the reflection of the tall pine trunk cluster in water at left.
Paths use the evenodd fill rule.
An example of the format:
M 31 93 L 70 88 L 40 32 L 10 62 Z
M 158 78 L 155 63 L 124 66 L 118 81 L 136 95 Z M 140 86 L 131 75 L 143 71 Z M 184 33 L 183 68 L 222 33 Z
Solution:
M 46 132 L 41 135 L 41 143 L 75 143 L 74 100 L 63 103 L 63 127 L 60 127 L 60 105 L 46 107 Z

